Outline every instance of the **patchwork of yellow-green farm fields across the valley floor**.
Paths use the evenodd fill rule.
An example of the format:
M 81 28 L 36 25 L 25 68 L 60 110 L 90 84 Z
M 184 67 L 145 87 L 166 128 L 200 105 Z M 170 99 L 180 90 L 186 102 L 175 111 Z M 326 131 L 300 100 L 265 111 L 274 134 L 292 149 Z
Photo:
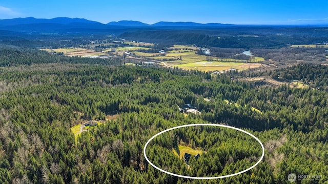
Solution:
M 232 59 L 232 58 L 217 58 L 213 56 L 199 55 L 196 51 L 199 49 L 194 46 L 174 45 L 167 53 L 146 53 L 137 50 L 149 50 L 150 43 L 138 42 L 124 42 L 125 44 L 134 45 L 129 47 L 117 47 L 103 49 L 102 52 L 95 52 L 93 50 L 84 48 L 59 48 L 59 49 L 42 49 L 47 52 L 62 52 L 67 56 L 81 56 L 81 57 L 99 57 L 107 55 L 108 52 L 116 56 L 122 56 L 125 52 L 131 53 L 129 57 L 136 56 L 144 57 L 151 60 L 158 60 L 165 62 L 166 65 L 171 67 L 178 67 L 186 70 L 200 70 L 200 71 L 224 71 L 229 69 L 245 70 L 250 68 L 257 68 L 260 65 L 254 64 L 264 60 L 262 57 L 253 57 L 251 62 L 247 64 L 245 60 Z M 113 43 L 110 43 L 113 44 Z M 145 46 L 145 47 L 142 47 Z M 115 51 L 115 52 L 113 52 Z

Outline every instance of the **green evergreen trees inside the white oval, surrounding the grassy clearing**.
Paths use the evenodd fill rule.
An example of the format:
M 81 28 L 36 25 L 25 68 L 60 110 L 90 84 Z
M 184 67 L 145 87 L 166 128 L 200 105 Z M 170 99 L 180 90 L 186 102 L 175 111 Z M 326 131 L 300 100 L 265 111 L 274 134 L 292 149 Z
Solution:
M 174 149 L 177 154 L 182 154 L 178 148 L 181 142 L 204 152 L 197 160 L 195 155 L 191 156 L 187 166 L 185 160 L 178 159 L 172 151 Z M 243 171 L 254 165 L 262 154 L 261 146 L 251 136 L 211 126 L 185 127 L 163 133 L 147 148 L 150 161 L 159 168 L 194 177 L 229 175 L 236 169 Z M 270 178 L 272 180 L 273 176 Z

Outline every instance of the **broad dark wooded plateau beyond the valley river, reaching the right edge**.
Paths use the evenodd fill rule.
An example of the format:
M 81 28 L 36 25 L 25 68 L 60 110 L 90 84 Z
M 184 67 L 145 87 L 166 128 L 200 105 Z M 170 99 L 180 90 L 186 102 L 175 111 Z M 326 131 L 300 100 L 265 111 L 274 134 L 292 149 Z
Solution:
M 150 43 L 197 45 L 220 48 L 282 48 L 290 44 L 322 43 L 328 39 L 325 28 L 232 27 L 212 29 L 133 30 L 120 34 L 125 39 Z

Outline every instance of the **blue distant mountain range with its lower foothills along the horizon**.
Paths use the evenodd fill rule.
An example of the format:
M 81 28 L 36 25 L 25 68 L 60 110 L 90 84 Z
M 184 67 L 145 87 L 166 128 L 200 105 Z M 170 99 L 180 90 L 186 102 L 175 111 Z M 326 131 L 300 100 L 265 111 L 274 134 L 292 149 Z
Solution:
M 291 27 L 295 27 L 295 26 L 297 25 Z M 202 29 L 202 28 L 227 28 L 227 27 L 242 27 L 242 25 L 219 24 L 219 23 L 200 24 L 200 23 L 193 23 L 193 22 L 158 22 L 155 24 L 145 24 L 138 21 L 119 21 L 119 22 L 110 22 L 108 24 L 102 24 L 95 21 L 89 21 L 84 18 L 68 18 L 68 17 L 57 17 L 52 19 L 34 18 L 34 17 L 0 19 L 0 31 L 6 33 L 6 35 L 10 34 L 10 32 L 13 33 L 19 32 L 24 34 L 29 34 L 29 33 L 121 34 L 130 31 L 132 29 L 138 29 L 138 30 Z M 271 27 L 274 26 L 272 25 Z M 289 26 L 281 25 L 278 27 L 289 27 Z M 4 35 L 0 34 L 0 36 L 4 36 Z

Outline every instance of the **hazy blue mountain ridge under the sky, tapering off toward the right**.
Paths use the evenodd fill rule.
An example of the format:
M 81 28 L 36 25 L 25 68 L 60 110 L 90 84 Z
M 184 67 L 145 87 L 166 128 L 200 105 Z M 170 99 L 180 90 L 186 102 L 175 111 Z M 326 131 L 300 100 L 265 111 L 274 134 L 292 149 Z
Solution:
M 130 28 L 162 28 L 162 27 L 222 27 L 231 26 L 225 24 L 199 24 L 192 22 L 159 22 L 152 25 L 141 23 L 138 21 L 119 21 L 102 24 L 95 21 L 89 21 L 84 18 L 68 18 L 57 17 L 52 19 L 44 18 L 13 18 L 0 19 L 0 30 L 15 31 L 15 32 L 42 32 L 42 31 L 67 31 L 67 30 L 95 30 L 95 29 L 130 29 Z

